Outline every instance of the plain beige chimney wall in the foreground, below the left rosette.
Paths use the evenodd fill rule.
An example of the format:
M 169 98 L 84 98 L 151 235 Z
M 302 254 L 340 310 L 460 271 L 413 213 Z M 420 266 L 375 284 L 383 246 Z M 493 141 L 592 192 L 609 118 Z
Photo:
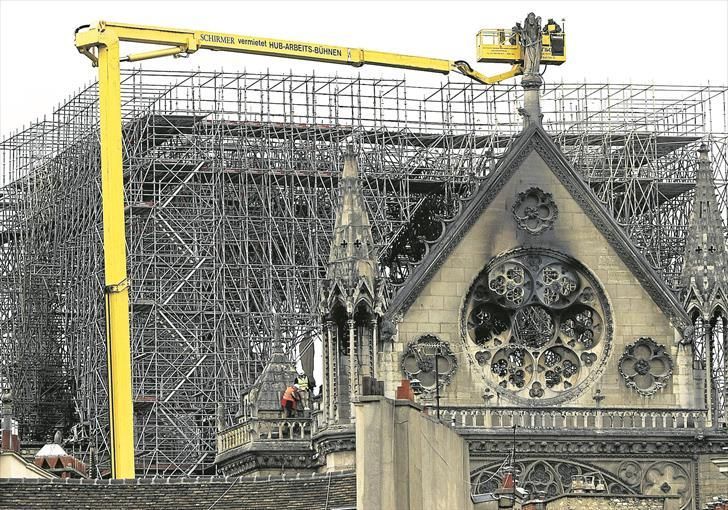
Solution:
M 356 406 L 357 508 L 467 510 L 465 442 L 408 400 L 362 397 Z

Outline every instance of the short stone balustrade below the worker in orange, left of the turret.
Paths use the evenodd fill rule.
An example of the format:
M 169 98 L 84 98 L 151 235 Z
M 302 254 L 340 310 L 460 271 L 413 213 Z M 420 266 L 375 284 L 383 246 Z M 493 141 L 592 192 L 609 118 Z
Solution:
M 217 435 L 217 451 L 223 453 L 253 441 L 300 441 L 311 439 L 308 418 L 251 418 Z

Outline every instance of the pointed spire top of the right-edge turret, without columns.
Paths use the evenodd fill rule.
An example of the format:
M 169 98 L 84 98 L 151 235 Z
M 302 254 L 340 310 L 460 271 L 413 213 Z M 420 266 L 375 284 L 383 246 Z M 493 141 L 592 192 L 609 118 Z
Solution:
M 723 222 L 715 197 L 713 172 L 710 168 L 708 147 L 698 150 L 698 171 L 695 178 L 695 198 L 690 216 L 688 235 L 685 240 L 685 257 L 680 278 L 685 299 L 691 294 L 701 303 L 708 304 L 717 298 L 719 290 L 726 294 L 728 267 Z M 703 310 L 707 313 L 709 310 Z

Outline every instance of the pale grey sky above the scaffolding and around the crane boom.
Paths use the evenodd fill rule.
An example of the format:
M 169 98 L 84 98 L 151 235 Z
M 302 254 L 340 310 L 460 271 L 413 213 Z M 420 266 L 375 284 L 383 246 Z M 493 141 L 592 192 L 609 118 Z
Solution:
M 99 19 L 280 37 L 468 60 L 475 33 L 510 27 L 533 10 L 566 18 L 568 61 L 551 81 L 728 84 L 728 0 L 530 2 L 185 2 L 0 0 L 0 138 L 50 113 L 95 80 L 73 31 Z M 122 49 L 123 51 L 123 49 Z M 136 64 L 135 66 L 139 66 Z M 206 69 L 401 77 L 432 84 L 438 75 L 255 55 L 199 52 L 143 63 Z M 476 65 L 496 73 L 504 67 Z

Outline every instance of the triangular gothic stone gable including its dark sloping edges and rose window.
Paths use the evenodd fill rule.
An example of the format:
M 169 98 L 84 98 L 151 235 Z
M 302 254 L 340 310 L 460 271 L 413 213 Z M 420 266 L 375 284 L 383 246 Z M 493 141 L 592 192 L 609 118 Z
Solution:
M 449 346 L 440 358 L 460 368 L 445 377 L 440 366 L 444 405 L 591 407 L 607 395 L 604 406 L 699 406 L 676 335 L 687 314 L 540 127 L 524 131 L 388 313 L 401 353 L 390 366 L 407 377 L 434 381 L 423 375 L 434 363 L 408 364 L 423 338 Z

